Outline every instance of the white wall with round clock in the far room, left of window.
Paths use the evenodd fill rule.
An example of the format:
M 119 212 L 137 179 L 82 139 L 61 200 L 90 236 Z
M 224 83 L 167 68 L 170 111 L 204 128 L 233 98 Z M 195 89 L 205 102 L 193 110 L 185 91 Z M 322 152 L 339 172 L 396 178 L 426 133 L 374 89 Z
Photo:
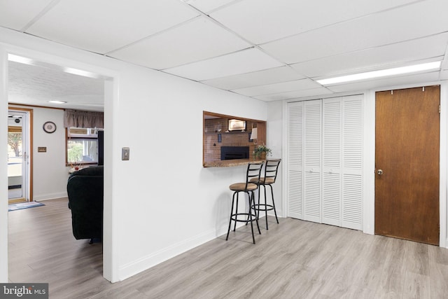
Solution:
M 64 111 L 20 105 L 10 107 L 33 110 L 33 200 L 66 197 L 69 174 L 65 166 Z M 56 132 L 43 131 L 46 121 L 55 123 Z M 38 153 L 39 146 L 45 146 L 46 153 Z

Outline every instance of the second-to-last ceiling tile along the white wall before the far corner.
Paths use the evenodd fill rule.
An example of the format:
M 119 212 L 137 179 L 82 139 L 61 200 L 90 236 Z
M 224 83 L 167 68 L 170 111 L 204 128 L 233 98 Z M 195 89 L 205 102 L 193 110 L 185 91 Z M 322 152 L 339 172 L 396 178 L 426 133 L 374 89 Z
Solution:
M 237 90 L 232 90 L 233 92 L 237 92 L 240 95 L 246 95 L 248 97 L 253 97 L 257 95 L 270 95 L 279 92 L 290 92 L 295 90 L 306 90 L 311 88 L 320 88 L 321 85 L 318 83 L 309 80 L 309 79 L 301 79 L 296 81 L 288 81 L 267 85 L 254 86 L 251 88 L 240 88 Z

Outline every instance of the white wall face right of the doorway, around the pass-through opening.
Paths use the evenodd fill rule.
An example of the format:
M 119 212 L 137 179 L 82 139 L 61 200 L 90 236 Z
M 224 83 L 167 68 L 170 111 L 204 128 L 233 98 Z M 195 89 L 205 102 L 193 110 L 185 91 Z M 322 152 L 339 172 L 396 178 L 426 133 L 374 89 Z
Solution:
M 253 99 L 130 66 L 120 73 L 122 94 L 114 130 L 130 161 L 118 161 L 113 174 L 121 176 L 114 200 L 125 278 L 227 228 L 228 186 L 245 168 L 202 167 L 202 111 L 259 120 L 267 111 Z

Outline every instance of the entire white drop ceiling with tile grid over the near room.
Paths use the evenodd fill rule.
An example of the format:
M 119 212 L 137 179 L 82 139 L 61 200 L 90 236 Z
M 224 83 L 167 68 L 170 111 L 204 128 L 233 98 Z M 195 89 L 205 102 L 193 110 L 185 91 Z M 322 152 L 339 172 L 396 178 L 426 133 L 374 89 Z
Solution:
M 446 0 L 24 0 L 0 1 L 0 27 L 269 102 L 447 80 L 446 11 Z M 440 69 L 317 82 L 434 61 Z M 21 84 L 10 82 L 17 98 Z

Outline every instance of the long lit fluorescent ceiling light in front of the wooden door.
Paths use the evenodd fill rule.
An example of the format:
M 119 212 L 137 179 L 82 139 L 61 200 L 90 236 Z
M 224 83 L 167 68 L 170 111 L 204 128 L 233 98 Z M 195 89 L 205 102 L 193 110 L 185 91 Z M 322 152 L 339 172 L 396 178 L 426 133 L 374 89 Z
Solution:
M 380 69 L 379 71 L 367 71 L 365 73 L 317 80 L 317 83 L 319 83 L 321 85 L 330 85 L 330 84 L 335 84 L 335 83 L 344 83 L 344 82 L 360 81 L 360 80 L 372 79 L 372 78 L 381 78 L 381 77 L 386 77 L 386 76 L 410 74 L 410 73 L 416 73 L 419 71 L 429 71 L 432 69 L 434 69 L 434 70 L 440 69 L 440 64 L 442 64 L 442 62 L 437 61 L 437 62 L 428 62 L 428 63 L 423 63 L 423 64 L 409 65 L 408 67 L 395 67 L 393 69 Z

